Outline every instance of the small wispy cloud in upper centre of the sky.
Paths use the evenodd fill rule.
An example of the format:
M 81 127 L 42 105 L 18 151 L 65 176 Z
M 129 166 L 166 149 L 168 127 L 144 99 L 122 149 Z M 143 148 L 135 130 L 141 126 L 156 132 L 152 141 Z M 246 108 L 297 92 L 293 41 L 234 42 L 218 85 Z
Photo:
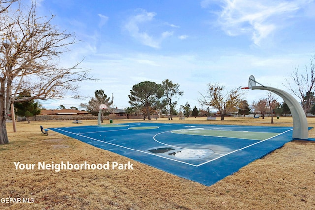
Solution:
M 159 29 L 158 26 L 153 23 L 156 22 L 156 20 L 154 19 L 155 16 L 155 12 L 147 12 L 144 9 L 138 9 L 137 14 L 131 16 L 128 19 L 127 23 L 124 25 L 124 29 L 128 31 L 131 37 L 133 37 L 143 45 L 153 48 L 160 48 L 160 44 L 162 43 L 162 41 L 165 38 L 172 36 L 173 32 L 162 31 L 161 29 Z M 175 25 L 172 27 L 175 27 Z M 151 34 L 159 35 L 151 35 L 151 30 L 155 30 L 152 31 Z

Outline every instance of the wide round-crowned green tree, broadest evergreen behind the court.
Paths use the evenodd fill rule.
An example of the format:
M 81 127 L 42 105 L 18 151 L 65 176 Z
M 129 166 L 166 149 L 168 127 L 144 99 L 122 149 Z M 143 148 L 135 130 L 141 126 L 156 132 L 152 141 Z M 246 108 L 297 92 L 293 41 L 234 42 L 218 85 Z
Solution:
M 159 99 L 163 96 L 163 89 L 160 84 L 151 81 L 144 81 L 132 87 L 129 95 L 131 106 L 145 109 L 148 120 L 151 120 L 150 112 L 157 105 Z

